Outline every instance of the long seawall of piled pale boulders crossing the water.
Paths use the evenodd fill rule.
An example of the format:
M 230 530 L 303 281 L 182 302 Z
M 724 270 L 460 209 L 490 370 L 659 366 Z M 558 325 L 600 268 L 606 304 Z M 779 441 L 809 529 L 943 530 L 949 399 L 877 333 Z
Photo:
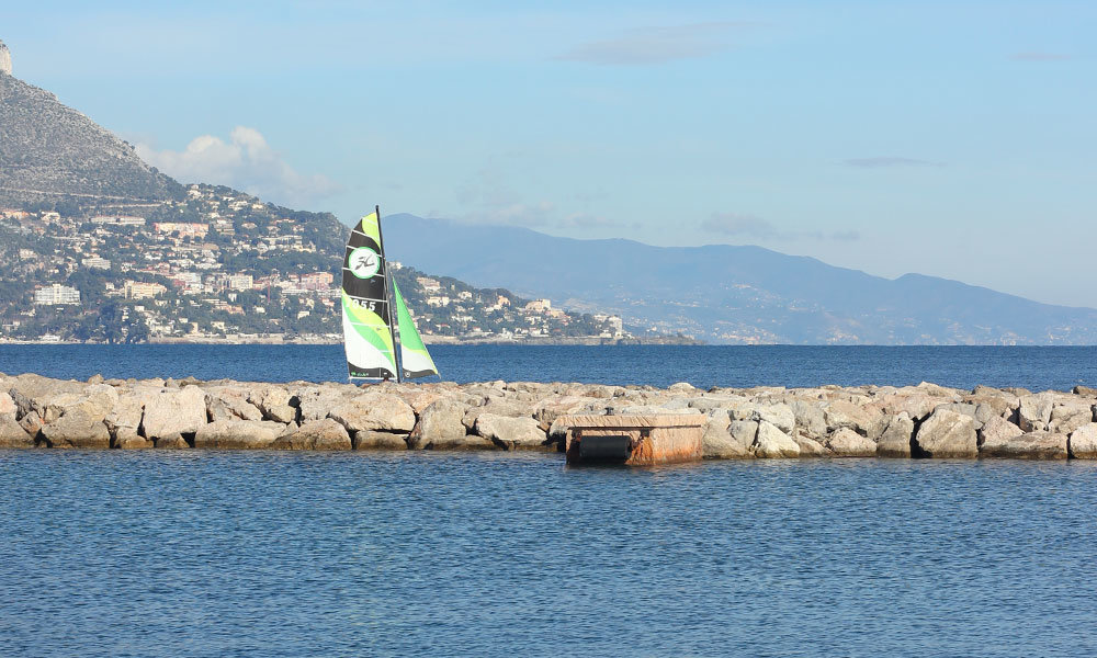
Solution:
M 697 413 L 706 458 L 1097 458 L 1097 390 L 60 381 L 0 374 L 0 447 L 558 451 L 567 415 Z

